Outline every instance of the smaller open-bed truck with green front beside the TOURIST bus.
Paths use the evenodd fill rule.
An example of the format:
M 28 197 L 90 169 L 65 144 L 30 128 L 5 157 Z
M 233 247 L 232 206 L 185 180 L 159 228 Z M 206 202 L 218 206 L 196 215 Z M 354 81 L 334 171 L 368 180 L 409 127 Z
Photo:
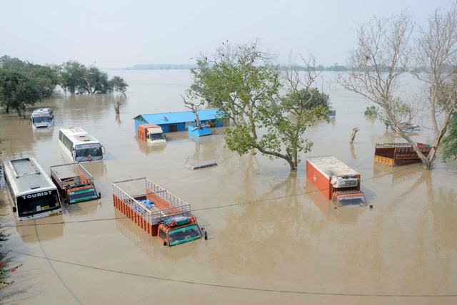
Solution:
M 59 190 L 61 199 L 67 203 L 96 200 L 94 177 L 79 163 L 51 166 L 51 179 Z

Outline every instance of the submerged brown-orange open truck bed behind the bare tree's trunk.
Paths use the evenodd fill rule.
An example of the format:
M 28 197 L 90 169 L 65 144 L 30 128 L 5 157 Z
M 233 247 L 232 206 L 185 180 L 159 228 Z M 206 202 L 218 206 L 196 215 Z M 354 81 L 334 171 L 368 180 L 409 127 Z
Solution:
M 428 156 L 431 146 L 423 143 L 416 144 L 423 155 Z M 409 143 L 376 143 L 374 162 L 398 166 L 421 162 L 421 158 Z

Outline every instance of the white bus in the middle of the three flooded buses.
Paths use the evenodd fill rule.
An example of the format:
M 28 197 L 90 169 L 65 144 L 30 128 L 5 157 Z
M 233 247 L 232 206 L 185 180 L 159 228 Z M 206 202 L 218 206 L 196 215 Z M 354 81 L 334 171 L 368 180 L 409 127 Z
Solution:
M 69 127 L 59 130 L 59 145 L 74 162 L 102 160 L 104 147 L 99 140 L 82 128 Z

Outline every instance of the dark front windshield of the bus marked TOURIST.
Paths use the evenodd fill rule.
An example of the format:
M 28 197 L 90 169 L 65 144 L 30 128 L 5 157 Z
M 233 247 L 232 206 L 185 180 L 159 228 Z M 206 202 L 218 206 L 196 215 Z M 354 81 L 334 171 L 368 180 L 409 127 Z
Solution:
M 21 195 L 16 197 L 19 217 L 30 216 L 55 210 L 60 207 L 59 197 L 56 190 L 36 192 L 35 194 Z

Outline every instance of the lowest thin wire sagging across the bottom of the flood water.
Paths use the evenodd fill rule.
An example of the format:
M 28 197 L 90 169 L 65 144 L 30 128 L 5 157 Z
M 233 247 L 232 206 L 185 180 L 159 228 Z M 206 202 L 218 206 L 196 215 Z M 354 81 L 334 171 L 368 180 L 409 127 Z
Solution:
M 53 259 L 50 257 L 40 257 L 39 255 L 27 254 L 24 252 L 17 252 L 17 251 L 11 251 L 11 252 L 21 254 L 21 255 L 24 255 L 27 257 L 35 257 L 38 259 L 45 259 L 45 260 L 48 260 L 51 262 L 59 262 L 62 264 L 69 264 L 69 265 L 76 266 L 76 267 L 84 267 L 84 268 L 95 269 L 95 270 L 100 270 L 100 271 L 104 271 L 104 272 L 124 274 L 124 275 L 142 277 L 142 278 L 146 278 L 146 279 L 156 279 L 156 280 L 160 280 L 160 281 L 170 281 L 170 282 L 180 283 L 180 284 L 193 284 L 193 285 L 199 285 L 199 286 L 211 286 L 211 287 L 225 288 L 225 289 L 278 292 L 278 293 L 283 293 L 283 294 L 312 294 L 312 295 L 321 295 L 321 296 L 378 296 L 378 297 L 456 297 L 457 296 L 457 294 L 345 294 L 345 293 L 338 293 L 338 292 L 299 291 L 299 290 L 257 288 L 257 287 L 248 287 L 248 286 L 222 285 L 222 284 L 214 284 L 214 283 L 205 283 L 205 282 L 201 282 L 201 281 L 186 281 L 186 280 L 182 280 L 182 279 L 171 279 L 171 278 L 166 278 L 166 277 L 161 277 L 161 276 L 137 274 L 137 273 L 133 273 L 133 272 L 124 272 L 121 270 L 95 267 L 95 266 L 90 266 L 87 264 L 67 262 L 62 259 Z

